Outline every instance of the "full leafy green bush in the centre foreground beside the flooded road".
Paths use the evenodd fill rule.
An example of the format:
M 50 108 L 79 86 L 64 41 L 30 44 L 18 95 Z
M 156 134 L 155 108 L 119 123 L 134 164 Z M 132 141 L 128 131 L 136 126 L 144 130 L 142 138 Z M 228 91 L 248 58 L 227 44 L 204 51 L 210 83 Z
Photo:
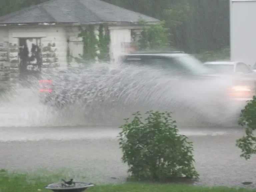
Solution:
M 133 120 L 125 119 L 119 133 L 122 160 L 128 164 L 135 180 L 170 181 L 180 177 L 198 178 L 193 157 L 193 144 L 180 135 L 171 113 L 139 112 Z

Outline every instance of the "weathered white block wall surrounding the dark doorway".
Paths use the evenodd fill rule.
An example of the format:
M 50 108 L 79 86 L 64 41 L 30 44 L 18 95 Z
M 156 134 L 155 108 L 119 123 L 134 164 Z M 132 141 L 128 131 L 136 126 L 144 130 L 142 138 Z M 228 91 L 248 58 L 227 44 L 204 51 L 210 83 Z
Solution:
M 67 67 L 67 31 L 63 26 L 15 26 L 0 30 L 0 89 L 19 82 L 18 38 L 41 38 L 42 72 Z M 7 43 L 9 42 L 9 43 Z

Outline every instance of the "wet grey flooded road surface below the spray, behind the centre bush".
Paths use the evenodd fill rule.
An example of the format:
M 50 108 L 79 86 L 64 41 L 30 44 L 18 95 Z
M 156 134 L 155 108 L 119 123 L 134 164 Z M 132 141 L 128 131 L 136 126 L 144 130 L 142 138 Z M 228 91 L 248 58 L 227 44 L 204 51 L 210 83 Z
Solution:
M 110 127 L 1 127 L 0 168 L 37 170 L 63 167 L 82 174 L 90 182 L 125 182 L 118 128 Z M 241 185 L 256 181 L 256 156 L 239 157 L 235 140 L 241 128 L 181 129 L 194 142 L 199 184 Z

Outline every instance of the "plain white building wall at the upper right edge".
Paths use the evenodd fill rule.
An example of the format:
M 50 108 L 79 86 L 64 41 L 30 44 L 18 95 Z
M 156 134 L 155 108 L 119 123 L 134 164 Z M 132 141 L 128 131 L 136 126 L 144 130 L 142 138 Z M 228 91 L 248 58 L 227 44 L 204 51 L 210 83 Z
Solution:
M 230 0 L 230 58 L 256 62 L 256 0 Z

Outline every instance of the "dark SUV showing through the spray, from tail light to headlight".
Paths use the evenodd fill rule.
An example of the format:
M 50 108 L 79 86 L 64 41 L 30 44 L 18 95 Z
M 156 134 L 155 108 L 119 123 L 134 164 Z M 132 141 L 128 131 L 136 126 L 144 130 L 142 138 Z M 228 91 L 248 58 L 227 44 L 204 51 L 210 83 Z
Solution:
M 252 89 L 248 88 L 248 82 L 246 82 L 244 79 L 236 79 L 237 85 L 240 87 L 233 87 L 233 85 L 227 85 L 223 81 L 221 82 L 220 78 L 221 76 L 218 74 L 214 74 L 211 69 L 205 67 L 201 61 L 193 57 L 192 55 L 186 54 L 184 52 L 135 52 L 132 54 L 125 54 L 120 57 L 120 62 L 123 65 L 135 65 L 135 66 L 148 66 L 150 68 L 156 68 L 158 71 L 159 69 L 164 73 L 166 73 L 167 76 L 176 76 L 179 80 L 181 78 L 185 79 L 181 85 L 180 82 L 179 86 L 183 86 L 185 90 L 184 94 L 189 95 L 189 97 L 193 97 L 193 93 L 196 92 L 195 89 L 198 89 L 199 91 L 205 93 L 206 91 L 210 90 L 213 95 L 216 95 L 216 90 L 224 89 L 224 91 L 221 91 L 221 95 L 217 95 L 217 99 L 226 99 L 226 97 L 234 97 L 239 98 L 238 100 L 249 100 L 252 98 Z M 72 69 L 74 70 L 74 69 Z M 72 72 L 74 73 L 74 72 Z M 78 80 L 71 80 L 69 72 L 63 71 L 59 73 L 52 74 L 53 76 L 57 76 L 55 79 L 55 82 L 51 82 L 51 80 L 45 80 L 41 81 L 41 96 L 42 101 L 45 103 L 53 103 L 57 106 L 64 106 L 67 102 L 70 102 L 72 95 L 76 95 L 76 92 L 81 92 L 83 94 L 87 94 L 89 92 L 92 92 L 93 89 L 97 87 L 94 87 L 93 81 L 90 81 L 90 79 L 86 79 L 86 76 L 83 76 L 82 72 L 80 70 L 76 71 L 77 75 L 72 75 L 72 77 L 76 76 L 76 78 L 80 78 L 80 84 L 81 87 L 77 87 L 76 84 L 78 83 Z M 96 74 L 95 74 L 96 73 Z M 115 75 L 115 72 L 106 75 L 104 71 L 101 71 L 102 74 L 99 73 L 99 71 L 92 70 L 90 73 L 87 73 L 86 75 L 93 75 L 97 76 L 97 78 L 107 78 L 106 76 L 112 76 Z M 80 74 L 80 75 L 79 75 Z M 51 75 L 50 75 L 51 76 Z M 105 76 L 105 77 L 102 77 Z M 96 78 L 96 79 L 97 79 Z M 110 82 L 112 81 L 110 78 Z M 56 81 L 57 79 L 57 81 Z M 82 79 L 82 80 L 81 80 Z M 115 79 L 115 80 L 118 80 Z M 207 80 L 209 80 L 209 83 L 215 82 L 216 80 L 216 86 L 205 86 L 200 87 L 200 83 L 204 82 L 204 84 L 208 85 Z M 218 80 L 218 81 L 217 81 Z M 97 81 L 97 80 L 95 80 Z M 74 85 L 71 85 L 71 84 Z M 125 83 L 125 82 L 123 82 Z M 129 82 L 126 82 L 129 83 Z M 175 84 L 174 82 L 172 82 Z M 88 86 L 84 86 L 88 85 Z M 193 85 L 193 86 L 191 86 Z M 176 86 L 176 84 L 175 84 Z M 219 87 L 221 86 L 221 87 Z M 246 86 L 246 89 L 245 89 Z M 72 90 L 69 90 L 72 87 Z M 77 88 L 75 88 L 77 87 Z M 186 87 L 186 88 L 185 88 Z M 100 89 L 100 87 L 98 87 Z M 104 89 L 104 87 L 102 88 Z M 204 89 L 204 90 L 202 90 Z M 246 90 L 246 91 L 244 91 Z M 73 92 L 72 92 L 73 91 Z M 177 90 L 178 91 L 178 90 Z M 227 91 L 227 94 L 226 94 Z M 72 92 L 72 93 L 71 93 Z M 122 92 L 122 90 L 120 90 Z M 118 93 L 117 93 L 118 94 Z M 81 95 L 81 94 L 80 94 Z

